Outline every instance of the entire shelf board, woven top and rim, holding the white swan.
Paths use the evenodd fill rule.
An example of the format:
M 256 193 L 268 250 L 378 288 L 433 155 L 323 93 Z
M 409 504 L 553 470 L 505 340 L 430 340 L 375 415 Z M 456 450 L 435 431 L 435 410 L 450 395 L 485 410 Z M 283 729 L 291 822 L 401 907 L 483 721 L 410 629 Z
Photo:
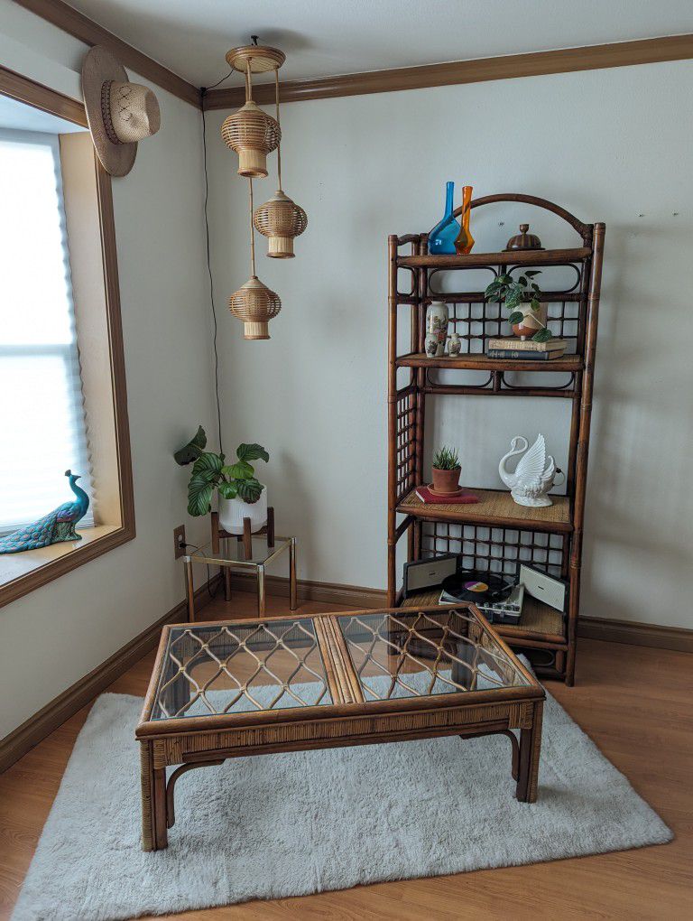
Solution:
M 399 503 L 401 515 L 431 521 L 450 521 L 467 524 L 488 524 L 490 527 L 543 530 L 549 532 L 572 531 L 571 504 L 567 495 L 552 495 L 553 505 L 539 508 L 518 506 L 509 492 L 502 489 L 473 489 L 479 496 L 473 505 L 424 505 L 411 490 Z

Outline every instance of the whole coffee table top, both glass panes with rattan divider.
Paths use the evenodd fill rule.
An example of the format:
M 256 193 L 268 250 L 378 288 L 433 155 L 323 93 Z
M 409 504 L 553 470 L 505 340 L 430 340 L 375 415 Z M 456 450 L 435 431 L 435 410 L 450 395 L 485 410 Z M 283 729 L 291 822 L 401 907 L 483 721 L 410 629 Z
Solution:
M 153 721 L 347 703 L 337 674 L 366 704 L 537 685 L 465 608 L 177 624 L 164 644 Z

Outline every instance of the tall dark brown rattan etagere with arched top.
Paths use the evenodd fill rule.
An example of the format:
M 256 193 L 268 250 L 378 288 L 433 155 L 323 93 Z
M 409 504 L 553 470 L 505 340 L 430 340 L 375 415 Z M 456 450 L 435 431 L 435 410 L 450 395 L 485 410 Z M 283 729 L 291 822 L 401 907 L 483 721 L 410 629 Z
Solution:
M 428 253 L 426 234 L 388 239 L 388 604 L 434 603 L 435 593 L 398 598 L 397 546 L 405 534 L 410 560 L 456 553 L 468 568 L 507 576 L 514 576 L 518 561 L 544 569 L 569 583 L 568 610 L 561 614 L 530 599 L 520 623 L 500 626 L 499 632 L 530 656 L 539 674 L 572 683 L 605 226 L 583 224 L 560 205 L 530 195 L 489 195 L 473 201 L 471 207 L 497 202 L 547 209 L 567 221 L 582 245 L 433 256 Z M 566 354 L 547 362 L 489 358 L 484 354 L 487 341 L 510 330 L 504 321 L 506 311 L 488 303 L 478 290 L 479 270 L 488 270 L 491 280 L 501 272 L 513 274 L 530 265 L 566 269 L 567 280 L 561 281 L 560 290 L 542 286 L 549 304 L 549 328 L 567 340 Z M 475 270 L 474 289 L 464 288 L 466 270 Z M 438 284 L 440 273 L 445 273 L 445 286 Z M 403 279 L 407 284 L 402 284 Z M 451 279 L 455 290 L 450 290 Z M 447 303 L 451 329 L 463 343 L 460 356 L 424 354 L 426 307 L 432 300 Z M 409 348 L 402 350 L 405 337 Z M 401 376 L 407 372 L 404 382 Z M 426 479 L 424 417 L 436 395 L 553 397 L 570 402 L 567 495 L 552 496 L 549 507 L 526 508 L 515 505 L 506 492 L 479 489 L 475 490 L 478 505 L 424 506 L 415 489 Z M 473 489 L 472 484 L 465 485 Z

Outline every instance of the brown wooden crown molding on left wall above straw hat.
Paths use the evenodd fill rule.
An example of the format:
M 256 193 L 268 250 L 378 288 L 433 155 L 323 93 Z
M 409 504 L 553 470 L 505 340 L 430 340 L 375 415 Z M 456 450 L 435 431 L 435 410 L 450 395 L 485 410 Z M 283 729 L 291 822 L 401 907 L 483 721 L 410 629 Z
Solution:
M 168 70 L 163 64 L 158 64 L 144 52 L 137 51 L 127 41 L 122 41 L 108 29 L 104 29 L 96 22 L 82 13 L 77 12 L 73 6 L 63 3 L 63 0 L 15 0 L 19 6 L 24 6 L 31 13 L 51 22 L 58 29 L 63 29 L 73 35 L 75 39 L 84 41 L 87 45 L 104 45 L 115 54 L 121 64 L 130 67 L 133 71 L 157 87 L 166 89 L 167 92 L 178 96 L 191 105 L 200 106 L 200 90 L 193 87 L 178 74 Z

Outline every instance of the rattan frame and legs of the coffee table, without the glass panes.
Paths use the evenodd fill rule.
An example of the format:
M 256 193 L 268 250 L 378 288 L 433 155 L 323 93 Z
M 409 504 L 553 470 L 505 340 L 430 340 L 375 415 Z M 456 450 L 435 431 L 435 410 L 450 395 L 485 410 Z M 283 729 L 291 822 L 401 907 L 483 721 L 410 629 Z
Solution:
M 183 629 L 184 625 L 164 627 L 144 709 L 135 730 L 135 738 L 140 744 L 144 850 L 160 850 L 168 845 L 167 830 L 175 822 L 174 787 L 180 775 L 193 768 L 222 764 L 227 758 L 252 754 L 448 735 L 470 739 L 501 734 L 509 737 L 512 744 L 515 796 L 522 802 L 535 802 L 541 721 L 546 698 L 544 689 L 473 605 L 435 605 L 419 612 L 424 616 L 427 613 L 464 613 L 466 618 L 473 619 L 477 633 L 474 642 L 501 651 L 504 657 L 510 659 L 511 666 L 519 672 L 524 683 L 460 693 L 364 700 L 362 683 L 338 618 L 357 615 L 367 618 L 373 614 L 400 618 L 403 612 L 398 608 L 385 608 L 338 614 L 318 613 L 294 620 L 309 620 L 313 624 L 332 703 L 153 718 L 156 705 L 160 707 L 157 699 L 167 661 L 169 635 L 172 630 Z M 291 620 L 291 616 L 283 614 L 264 618 L 261 624 L 271 628 L 273 622 Z M 194 626 L 238 630 L 261 624 L 246 619 L 207 621 Z M 519 729 L 519 739 L 513 729 Z M 175 766 L 168 776 L 167 766 Z

